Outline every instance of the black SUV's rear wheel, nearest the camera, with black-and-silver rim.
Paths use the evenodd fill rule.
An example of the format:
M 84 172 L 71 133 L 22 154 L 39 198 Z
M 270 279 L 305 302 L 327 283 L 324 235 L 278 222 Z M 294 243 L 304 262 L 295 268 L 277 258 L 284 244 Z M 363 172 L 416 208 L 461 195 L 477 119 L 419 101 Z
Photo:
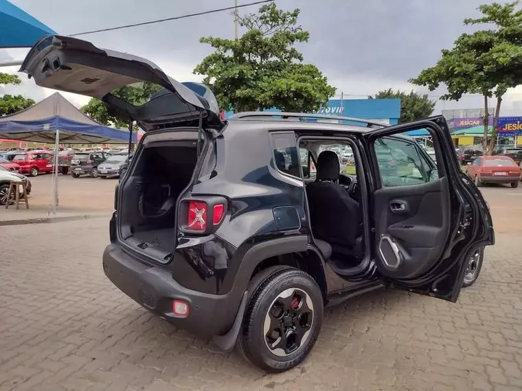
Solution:
M 286 266 L 263 270 L 249 285 L 249 301 L 238 335 L 238 350 L 249 362 L 266 372 L 284 372 L 297 366 L 317 341 L 323 322 L 323 304 L 321 289 L 302 270 Z M 270 322 L 275 322 L 276 326 L 271 338 Z M 299 333 L 289 330 L 286 332 L 288 340 L 285 338 L 286 344 L 283 344 L 281 333 L 286 328 L 301 331 L 304 340 Z M 269 348 L 270 343 L 274 348 Z M 281 347 L 277 348 L 279 345 Z

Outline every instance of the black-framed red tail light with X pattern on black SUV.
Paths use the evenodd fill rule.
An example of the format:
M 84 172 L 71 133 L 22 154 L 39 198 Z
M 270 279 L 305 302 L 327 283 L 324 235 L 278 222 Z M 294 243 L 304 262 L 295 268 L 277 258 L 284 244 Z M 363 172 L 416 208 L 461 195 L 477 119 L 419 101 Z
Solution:
M 222 197 L 183 200 L 179 228 L 185 233 L 213 233 L 223 222 L 226 212 L 227 202 Z

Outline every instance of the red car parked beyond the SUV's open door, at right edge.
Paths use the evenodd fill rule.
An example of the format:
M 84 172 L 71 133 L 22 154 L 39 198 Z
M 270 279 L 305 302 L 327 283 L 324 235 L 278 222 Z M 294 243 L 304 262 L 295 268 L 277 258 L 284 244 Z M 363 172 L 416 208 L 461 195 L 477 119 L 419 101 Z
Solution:
M 509 183 L 519 187 L 522 171 L 509 156 L 480 156 L 468 164 L 468 176 L 475 185 L 484 183 Z

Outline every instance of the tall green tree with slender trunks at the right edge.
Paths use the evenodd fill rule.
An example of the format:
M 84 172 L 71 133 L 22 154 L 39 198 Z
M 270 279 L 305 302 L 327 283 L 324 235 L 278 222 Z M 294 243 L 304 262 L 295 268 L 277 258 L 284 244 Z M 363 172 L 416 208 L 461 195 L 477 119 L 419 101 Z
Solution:
M 522 10 L 519 1 L 480 5 L 482 16 L 465 19 L 465 25 L 487 25 L 472 34 L 462 34 L 452 49 L 442 50 L 434 67 L 424 69 L 410 81 L 427 86 L 430 91 L 444 84 L 444 100 L 459 100 L 466 93 L 484 97 L 484 151 L 491 154 L 496 142 L 502 97 L 508 90 L 522 84 Z M 488 142 L 488 98 L 495 97 L 493 134 Z

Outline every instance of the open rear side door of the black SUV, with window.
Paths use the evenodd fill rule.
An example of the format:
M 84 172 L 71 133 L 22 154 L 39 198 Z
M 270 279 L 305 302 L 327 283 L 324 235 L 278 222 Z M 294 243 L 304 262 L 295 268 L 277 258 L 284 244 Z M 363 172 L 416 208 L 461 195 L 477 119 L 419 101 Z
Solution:
M 436 164 L 408 133 L 424 130 Z M 378 272 L 389 284 L 456 301 L 468 257 L 494 244 L 488 206 L 462 173 L 444 117 L 364 135 L 374 179 Z

